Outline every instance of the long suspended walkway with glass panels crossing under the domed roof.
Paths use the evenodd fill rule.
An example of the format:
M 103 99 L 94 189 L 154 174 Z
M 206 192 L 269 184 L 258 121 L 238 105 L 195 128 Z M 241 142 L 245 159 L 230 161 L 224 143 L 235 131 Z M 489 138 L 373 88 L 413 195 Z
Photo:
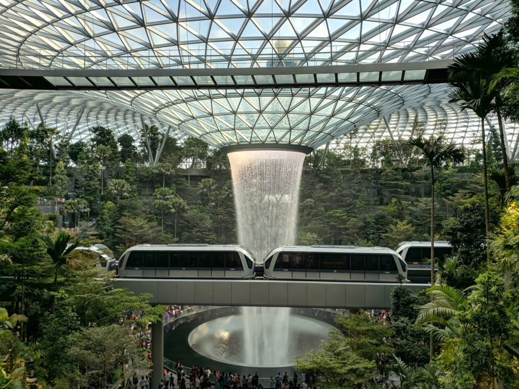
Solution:
M 166 90 L 280 89 L 442 84 L 450 60 L 196 69 L 0 68 L 0 89 Z

